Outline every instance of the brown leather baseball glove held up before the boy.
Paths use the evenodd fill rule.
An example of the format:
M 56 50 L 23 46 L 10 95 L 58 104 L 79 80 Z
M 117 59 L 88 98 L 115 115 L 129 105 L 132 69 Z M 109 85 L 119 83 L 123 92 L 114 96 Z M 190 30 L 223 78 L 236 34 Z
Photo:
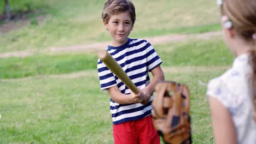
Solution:
M 153 124 L 165 143 L 192 143 L 188 87 L 165 81 L 156 85 L 155 92 Z

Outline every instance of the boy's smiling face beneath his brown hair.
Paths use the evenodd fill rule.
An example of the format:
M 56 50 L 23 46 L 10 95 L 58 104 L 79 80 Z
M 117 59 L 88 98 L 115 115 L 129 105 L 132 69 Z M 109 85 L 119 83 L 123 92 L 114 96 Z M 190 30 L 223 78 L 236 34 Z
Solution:
M 127 42 L 132 31 L 132 20 L 129 12 L 112 15 L 108 22 L 103 22 L 112 37 L 112 46 L 121 46 Z

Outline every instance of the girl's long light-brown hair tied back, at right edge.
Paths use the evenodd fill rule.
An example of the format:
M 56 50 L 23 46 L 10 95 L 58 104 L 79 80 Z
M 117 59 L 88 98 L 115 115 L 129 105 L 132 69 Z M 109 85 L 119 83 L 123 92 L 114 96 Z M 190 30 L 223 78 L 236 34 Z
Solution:
M 254 121 L 256 121 L 256 0 L 223 0 L 222 15 L 232 22 L 232 28 L 248 43 L 254 44 L 250 64 L 254 69 Z

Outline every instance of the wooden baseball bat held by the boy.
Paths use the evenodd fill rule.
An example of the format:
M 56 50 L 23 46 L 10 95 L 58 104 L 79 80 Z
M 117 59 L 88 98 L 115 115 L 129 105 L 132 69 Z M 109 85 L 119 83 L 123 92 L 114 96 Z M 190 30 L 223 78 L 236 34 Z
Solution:
M 115 59 L 109 55 L 106 50 L 102 50 L 98 52 L 98 57 L 101 61 L 107 65 L 108 69 L 112 71 L 124 84 L 131 89 L 131 91 L 135 94 L 139 93 L 138 88 L 131 81 L 130 77 L 126 75 L 121 66 L 115 61 Z

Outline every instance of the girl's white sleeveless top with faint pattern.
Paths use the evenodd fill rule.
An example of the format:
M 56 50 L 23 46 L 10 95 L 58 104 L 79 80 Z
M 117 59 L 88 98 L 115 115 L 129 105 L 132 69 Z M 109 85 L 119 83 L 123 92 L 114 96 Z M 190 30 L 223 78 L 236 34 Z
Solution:
M 249 55 L 235 58 L 232 68 L 208 83 L 207 95 L 222 103 L 232 115 L 238 143 L 256 143 L 253 119 L 253 69 Z

